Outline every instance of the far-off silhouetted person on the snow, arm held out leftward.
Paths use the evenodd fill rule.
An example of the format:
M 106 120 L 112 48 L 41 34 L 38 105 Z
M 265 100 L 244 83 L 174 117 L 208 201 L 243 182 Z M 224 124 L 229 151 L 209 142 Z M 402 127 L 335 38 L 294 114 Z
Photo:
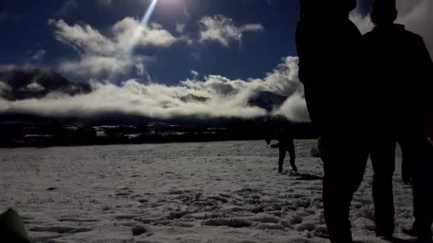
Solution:
M 266 132 L 266 143 L 269 145 L 271 141 L 276 139 L 278 144 L 273 144 L 273 148 L 279 149 L 278 158 L 278 172 L 283 172 L 284 158 L 286 158 L 286 153 L 290 156 L 290 165 L 294 172 L 298 171 L 296 167 L 296 153 L 295 153 L 295 143 L 293 141 L 293 133 L 291 125 L 286 125 L 286 127 L 279 127 L 274 129 L 269 129 Z

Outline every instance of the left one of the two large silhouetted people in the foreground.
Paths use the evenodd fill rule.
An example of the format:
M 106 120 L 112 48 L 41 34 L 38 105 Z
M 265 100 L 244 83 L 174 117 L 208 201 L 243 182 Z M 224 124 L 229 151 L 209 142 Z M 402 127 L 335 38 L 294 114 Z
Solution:
M 362 35 L 348 17 L 356 0 L 301 0 L 296 28 L 299 78 L 320 139 L 324 164 L 323 207 L 331 242 L 352 242 L 350 202 L 369 155 Z

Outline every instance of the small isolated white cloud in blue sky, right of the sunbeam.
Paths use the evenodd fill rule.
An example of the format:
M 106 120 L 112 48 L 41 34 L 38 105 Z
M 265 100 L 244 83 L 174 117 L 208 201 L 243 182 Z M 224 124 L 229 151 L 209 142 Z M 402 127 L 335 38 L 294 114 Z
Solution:
M 226 16 L 206 16 L 199 21 L 199 41 L 216 41 L 221 45 L 229 46 L 232 41 L 240 42 L 244 33 L 264 31 L 260 24 L 249 23 L 243 26 L 236 26 L 231 18 Z

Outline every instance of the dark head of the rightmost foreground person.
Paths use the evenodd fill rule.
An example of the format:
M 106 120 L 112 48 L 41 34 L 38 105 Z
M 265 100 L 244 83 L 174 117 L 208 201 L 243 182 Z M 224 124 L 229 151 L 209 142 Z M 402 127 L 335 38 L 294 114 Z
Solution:
M 375 0 L 371 6 L 371 21 L 376 26 L 389 25 L 397 19 L 395 0 Z

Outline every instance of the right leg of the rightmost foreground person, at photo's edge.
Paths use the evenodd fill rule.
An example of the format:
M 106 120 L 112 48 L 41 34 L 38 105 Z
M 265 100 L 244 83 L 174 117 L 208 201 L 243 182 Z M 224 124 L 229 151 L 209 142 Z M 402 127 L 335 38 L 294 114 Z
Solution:
M 405 134 L 400 139 L 409 159 L 414 197 L 414 234 L 424 242 L 432 242 L 433 222 L 433 148 L 427 137 Z

